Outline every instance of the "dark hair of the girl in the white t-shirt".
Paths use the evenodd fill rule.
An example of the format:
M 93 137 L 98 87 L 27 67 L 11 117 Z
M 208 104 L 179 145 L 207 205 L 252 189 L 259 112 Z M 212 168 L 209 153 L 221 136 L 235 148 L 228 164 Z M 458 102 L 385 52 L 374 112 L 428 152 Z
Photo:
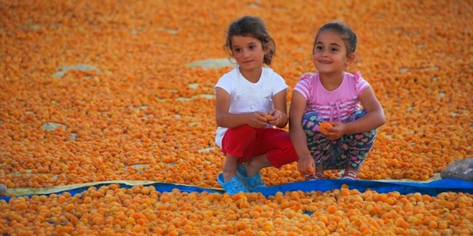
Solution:
M 227 32 L 227 42 L 223 45 L 224 49 L 232 53 L 232 37 L 234 36 L 251 36 L 258 39 L 263 44 L 263 49 L 266 49 L 266 44 L 269 42 L 268 54 L 265 54 L 263 62 L 266 65 L 271 64 L 273 56 L 276 54 L 276 44 L 273 38 L 270 37 L 268 29 L 261 18 L 251 15 L 245 15 L 235 20 L 229 27 Z

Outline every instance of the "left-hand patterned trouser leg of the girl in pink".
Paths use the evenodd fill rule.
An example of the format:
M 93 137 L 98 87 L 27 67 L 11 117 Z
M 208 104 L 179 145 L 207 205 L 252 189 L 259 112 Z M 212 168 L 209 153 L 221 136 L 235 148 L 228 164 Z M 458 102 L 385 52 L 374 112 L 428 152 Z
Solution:
M 323 122 L 322 116 L 316 112 L 304 114 L 302 117 L 302 128 L 306 133 L 307 146 L 313 156 L 316 174 L 323 176 L 325 163 L 333 156 L 333 144 L 319 130 L 319 125 Z

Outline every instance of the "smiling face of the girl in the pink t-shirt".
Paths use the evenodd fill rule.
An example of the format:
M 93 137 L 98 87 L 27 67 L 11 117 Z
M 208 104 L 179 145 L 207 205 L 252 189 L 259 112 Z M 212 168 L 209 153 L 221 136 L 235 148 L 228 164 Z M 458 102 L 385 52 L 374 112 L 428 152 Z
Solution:
M 313 49 L 313 65 L 320 73 L 342 73 L 351 59 L 347 57 L 347 46 L 337 32 L 325 30 L 318 35 Z

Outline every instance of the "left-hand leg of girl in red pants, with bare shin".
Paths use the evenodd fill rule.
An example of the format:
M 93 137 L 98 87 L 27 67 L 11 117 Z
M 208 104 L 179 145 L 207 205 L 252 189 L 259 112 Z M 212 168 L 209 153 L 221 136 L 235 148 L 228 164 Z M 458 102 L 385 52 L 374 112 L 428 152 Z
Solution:
M 226 156 L 223 165 L 224 182 L 236 175 L 236 164 L 253 157 L 256 141 L 256 130 L 249 125 L 230 128 L 222 139 L 222 151 Z

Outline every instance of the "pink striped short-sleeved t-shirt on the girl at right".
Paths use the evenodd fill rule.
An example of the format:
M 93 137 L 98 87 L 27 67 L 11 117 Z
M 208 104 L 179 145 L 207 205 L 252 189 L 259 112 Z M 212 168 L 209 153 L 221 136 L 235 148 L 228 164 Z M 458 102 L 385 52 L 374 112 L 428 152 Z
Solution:
M 359 72 L 354 75 L 344 72 L 340 87 L 328 91 L 323 87 L 318 73 L 315 73 L 301 77 L 294 91 L 306 98 L 306 113 L 316 112 L 324 120 L 345 123 L 354 111 L 360 109 L 359 95 L 370 86 Z

